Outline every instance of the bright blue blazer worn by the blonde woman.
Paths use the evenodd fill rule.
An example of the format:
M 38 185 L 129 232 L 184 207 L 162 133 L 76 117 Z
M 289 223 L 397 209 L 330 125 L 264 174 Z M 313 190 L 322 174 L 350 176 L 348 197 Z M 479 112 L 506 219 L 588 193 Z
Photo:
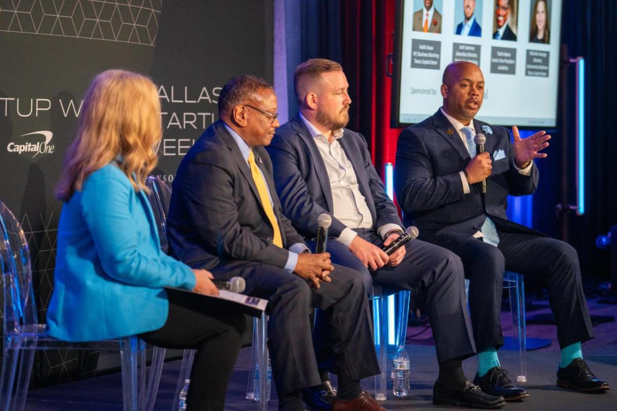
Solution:
M 191 269 L 160 250 L 146 194 L 115 164 L 89 175 L 65 202 L 47 313 L 52 337 L 95 341 L 157 330 L 167 321 L 163 287 L 194 286 Z

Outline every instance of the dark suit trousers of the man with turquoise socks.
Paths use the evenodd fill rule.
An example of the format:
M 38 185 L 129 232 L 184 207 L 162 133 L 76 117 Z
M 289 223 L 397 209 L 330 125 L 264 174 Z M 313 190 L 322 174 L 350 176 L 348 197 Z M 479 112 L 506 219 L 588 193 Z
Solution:
M 549 237 L 499 228 L 497 233 L 497 247 L 474 237 L 447 245 L 460 255 L 470 279 L 469 305 L 478 350 L 503 345 L 500 312 L 505 270 L 539 277 L 547 286 L 561 348 L 593 338 L 576 250 Z

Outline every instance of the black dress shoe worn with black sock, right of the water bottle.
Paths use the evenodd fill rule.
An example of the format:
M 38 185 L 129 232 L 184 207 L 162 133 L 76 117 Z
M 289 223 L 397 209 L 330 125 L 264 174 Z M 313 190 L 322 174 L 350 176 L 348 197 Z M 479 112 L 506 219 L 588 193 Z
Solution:
M 463 389 L 447 387 L 437 380 L 433 386 L 433 404 L 495 409 L 503 407 L 505 400 L 502 396 L 496 397 L 482 393 L 480 387 L 473 385 L 469 380 L 465 381 Z

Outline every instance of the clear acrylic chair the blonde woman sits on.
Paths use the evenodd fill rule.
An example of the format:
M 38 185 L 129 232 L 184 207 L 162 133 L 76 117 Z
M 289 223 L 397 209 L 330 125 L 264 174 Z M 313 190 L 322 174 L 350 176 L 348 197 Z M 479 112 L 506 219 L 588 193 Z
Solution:
M 146 392 L 145 343 L 135 335 L 118 340 L 68 343 L 52 338 L 38 322 L 30 250 L 20 224 L 0 201 L 0 267 L 4 287 L 4 351 L 0 410 L 22 411 L 37 349 L 120 351 L 124 411 L 141 411 Z

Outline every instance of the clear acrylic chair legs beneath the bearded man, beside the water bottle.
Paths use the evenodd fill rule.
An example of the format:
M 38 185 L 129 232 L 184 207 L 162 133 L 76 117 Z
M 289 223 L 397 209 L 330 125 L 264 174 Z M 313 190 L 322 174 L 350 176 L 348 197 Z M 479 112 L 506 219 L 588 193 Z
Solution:
M 389 313 L 387 309 L 387 297 L 393 290 L 384 289 L 381 285 L 373 285 L 373 332 L 375 337 L 375 351 L 379 362 L 380 373 L 375 376 L 375 399 L 386 401 L 386 376 L 387 376 L 387 347 L 389 330 Z M 407 333 L 407 319 L 409 315 L 409 300 L 411 292 L 400 290 L 396 293 L 395 318 L 396 328 L 394 334 L 394 346 L 405 345 Z

